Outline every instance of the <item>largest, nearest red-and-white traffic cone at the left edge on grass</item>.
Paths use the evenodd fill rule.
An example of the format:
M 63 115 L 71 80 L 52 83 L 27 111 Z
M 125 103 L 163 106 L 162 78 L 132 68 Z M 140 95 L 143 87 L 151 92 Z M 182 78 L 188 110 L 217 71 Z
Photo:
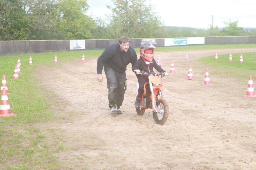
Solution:
M 11 113 L 7 92 L 6 92 L 6 89 L 3 88 L 3 92 L 1 96 L 0 117 L 10 117 L 10 116 L 15 116 L 15 114 Z

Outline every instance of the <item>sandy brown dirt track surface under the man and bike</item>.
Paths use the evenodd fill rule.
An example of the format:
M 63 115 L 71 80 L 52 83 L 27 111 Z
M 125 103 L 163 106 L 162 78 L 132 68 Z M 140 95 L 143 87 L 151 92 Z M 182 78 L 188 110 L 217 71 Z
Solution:
M 256 52 L 256 48 L 217 52 L 249 51 Z M 173 61 L 177 72 L 162 79 L 170 108 L 164 125 L 154 122 L 150 109 L 142 116 L 136 114 L 137 80 L 131 64 L 122 115 L 110 114 L 106 76 L 102 83 L 97 81 L 96 58 L 42 68 L 38 73 L 42 85 L 60 99 L 54 112 L 68 119 L 35 126 L 42 130 L 50 127 L 63 136 L 64 151 L 53 155 L 61 169 L 255 170 L 256 98 L 243 97 L 248 81 L 211 75 L 212 68 L 213 85 L 201 85 L 206 67 L 195 59 L 215 53 L 160 53 L 163 69 L 170 71 Z M 189 65 L 195 80 L 187 80 Z

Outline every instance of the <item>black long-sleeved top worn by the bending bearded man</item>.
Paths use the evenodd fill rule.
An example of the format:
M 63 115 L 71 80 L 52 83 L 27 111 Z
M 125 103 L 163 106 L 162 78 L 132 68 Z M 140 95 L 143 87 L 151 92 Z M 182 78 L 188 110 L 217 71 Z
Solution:
M 107 47 L 97 60 L 97 74 L 102 74 L 104 67 L 109 67 L 123 73 L 129 63 L 134 66 L 137 60 L 135 50 L 130 46 L 127 52 L 122 52 L 119 43 Z

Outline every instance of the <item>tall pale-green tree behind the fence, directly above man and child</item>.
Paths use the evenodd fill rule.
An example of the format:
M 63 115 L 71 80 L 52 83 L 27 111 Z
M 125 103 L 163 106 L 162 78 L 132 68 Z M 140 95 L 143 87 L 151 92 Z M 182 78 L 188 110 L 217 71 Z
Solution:
M 130 38 L 157 37 L 163 24 L 147 0 L 112 0 L 114 7 L 109 16 L 111 37 L 123 35 Z M 149 4 L 149 5 L 146 5 Z

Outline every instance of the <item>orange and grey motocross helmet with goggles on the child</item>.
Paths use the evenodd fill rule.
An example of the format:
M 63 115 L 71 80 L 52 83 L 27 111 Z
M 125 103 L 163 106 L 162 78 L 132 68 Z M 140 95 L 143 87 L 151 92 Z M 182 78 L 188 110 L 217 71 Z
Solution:
M 144 61 L 152 62 L 154 57 L 154 49 L 156 47 L 149 42 L 144 43 L 139 47 L 139 52 L 141 53 L 141 58 Z

